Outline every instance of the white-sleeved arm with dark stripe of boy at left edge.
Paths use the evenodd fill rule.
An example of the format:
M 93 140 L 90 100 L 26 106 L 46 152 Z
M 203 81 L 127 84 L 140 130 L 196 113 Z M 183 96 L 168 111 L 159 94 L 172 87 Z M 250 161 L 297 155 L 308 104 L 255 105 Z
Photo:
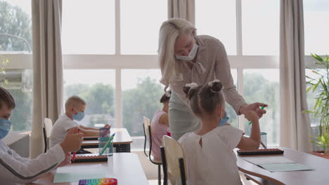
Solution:
M 47 153 L 42 153 L 34 159 L 25 159 L 24 162 L 8 153 L 11 150 L 7 146 L 6 151 L 0 151 L 1 181 L 28 183 L 51 172 L 65 159 L 65 153 L 80 148 L 82 136 L 82 133 L 69 132 L 63 142 L 53 146 Z

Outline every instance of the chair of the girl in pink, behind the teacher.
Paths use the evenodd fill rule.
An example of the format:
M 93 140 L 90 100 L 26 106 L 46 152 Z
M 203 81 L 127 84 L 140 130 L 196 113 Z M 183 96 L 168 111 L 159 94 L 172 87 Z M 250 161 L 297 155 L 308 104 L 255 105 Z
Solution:
M 155 160 L 155 158 L 151 155 L 152 151 L 152 133 L 150 129 L 150 119 L 146 118 L 143 116 L 143 130 L 144 130 L 144 153 L 145 156 L 148 157 L 151 163 L 157 165 L 157 179 L 158 179 L 158 184 L 161 185 L 161 165 L 162 161 L 161 160 Z M 149 138 L 149 145 L 150 145 L 150 151 L 148 154 L 146 153 L 146 140 Z

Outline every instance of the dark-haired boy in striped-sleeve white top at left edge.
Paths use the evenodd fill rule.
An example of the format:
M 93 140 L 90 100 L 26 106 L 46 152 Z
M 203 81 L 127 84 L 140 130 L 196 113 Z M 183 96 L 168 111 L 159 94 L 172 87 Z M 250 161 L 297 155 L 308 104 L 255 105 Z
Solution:
M 79 150 L 83 134 L 75 134 L 77 128 L 74 128 L 67 132 L 62 142 L 53 146 L 47 153 L 33 159 L 22 158 L 2 141 L 11 130 L 9 118 L 13 109 L 15 100 L 6 89 L 0 87 L 0 184 L 32 182 L 56 169 L 58 165 L 67 164 L 69 153 Z

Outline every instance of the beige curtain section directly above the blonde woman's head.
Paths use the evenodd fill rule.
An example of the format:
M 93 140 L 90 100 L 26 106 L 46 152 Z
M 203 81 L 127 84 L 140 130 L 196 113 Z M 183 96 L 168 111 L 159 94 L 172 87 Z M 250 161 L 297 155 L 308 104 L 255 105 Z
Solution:
M 181 18 L 195 25 L 195 0 L 168 0 L 168 18 Z

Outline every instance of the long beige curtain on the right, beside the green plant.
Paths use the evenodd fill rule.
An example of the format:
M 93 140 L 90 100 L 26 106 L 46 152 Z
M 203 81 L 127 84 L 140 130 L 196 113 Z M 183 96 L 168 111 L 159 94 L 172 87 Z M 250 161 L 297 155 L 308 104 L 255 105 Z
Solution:
M 280 146 L 311 150 L 302 0 L 280 1 Z

